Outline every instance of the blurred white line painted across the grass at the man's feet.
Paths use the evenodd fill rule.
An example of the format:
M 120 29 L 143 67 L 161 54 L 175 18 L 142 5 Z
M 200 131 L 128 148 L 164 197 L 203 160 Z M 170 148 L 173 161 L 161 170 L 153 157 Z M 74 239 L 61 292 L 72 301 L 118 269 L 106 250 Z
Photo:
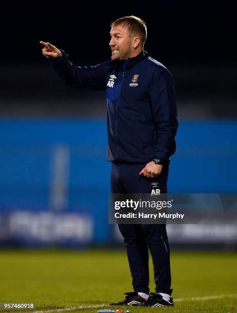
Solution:
M 214 299 L 223 299 L 223 298 L 237 298 L 237 294 L 232 295 L 218 295 L 218 296 L 208 296 L 208 297 L 191 297 L 191 298 L 180 298 L 180 299 L 174 299 L 174 302 L 181 302 L 181 301 L 198 301 L 198 300 L 214 300 Z M 75 310 L 81 310 L 81 309 L 89 309 L 89 308 L 100 308 L 109 306 L 108 303 L 102 303 L 102 304 L 96 304 L 96 305 L 89 305 L 89 306 L 72 306 L 72 307 L 65 307 L 61 309 L 50 309 L 50 310 L 39 310 L 39 311 L 33 311 L 33 313 L 50 313 L 50 312 L 61 312 L 61 311 L 75 311 Z

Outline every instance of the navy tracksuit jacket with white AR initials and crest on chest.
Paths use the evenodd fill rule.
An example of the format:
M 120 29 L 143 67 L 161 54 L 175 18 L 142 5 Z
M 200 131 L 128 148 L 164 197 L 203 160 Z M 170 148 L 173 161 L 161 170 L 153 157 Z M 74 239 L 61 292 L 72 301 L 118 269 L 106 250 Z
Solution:
M 71 87 L 106 90 L 109 161 L 147 163 L 169 160 L 176 150 L 178 127 L 175 81 L 160 62 L 142 51 L 122 62 L 76 66 L 64 51 L 50 59 L 56 72 Z

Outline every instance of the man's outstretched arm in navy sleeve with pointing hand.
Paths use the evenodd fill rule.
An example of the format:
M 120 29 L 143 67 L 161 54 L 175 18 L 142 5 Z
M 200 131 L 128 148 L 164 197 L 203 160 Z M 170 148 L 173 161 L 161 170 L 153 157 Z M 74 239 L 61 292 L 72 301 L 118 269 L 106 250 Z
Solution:
M 89 90 L 105 89 L 106 70 L 103 63 L 95 66 L 76 66 L 69 61 L 63 50 L 58 50 L 49 42 L 40 41 L 45 55 L 57 74 L 71 87 Z

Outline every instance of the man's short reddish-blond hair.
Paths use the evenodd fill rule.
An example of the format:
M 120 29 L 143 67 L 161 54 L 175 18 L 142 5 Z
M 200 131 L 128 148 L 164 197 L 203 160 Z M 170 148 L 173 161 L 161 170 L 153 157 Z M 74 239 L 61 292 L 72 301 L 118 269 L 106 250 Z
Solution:
M 126 26 L 132 35 L 139 35 L 142 45 L 144 46 L 147 36 L 146 24 L 144 20 L 134 15 L 124 16 L 113 21 L 111 28 L 121 24 Z

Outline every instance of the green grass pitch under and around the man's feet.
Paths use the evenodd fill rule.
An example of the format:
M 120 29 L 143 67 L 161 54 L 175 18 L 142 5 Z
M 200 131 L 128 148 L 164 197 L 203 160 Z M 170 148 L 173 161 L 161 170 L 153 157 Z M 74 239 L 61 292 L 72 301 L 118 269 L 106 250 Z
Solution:
M 236 265 L 236 253 L 171 252 L 174 300 L 220 295 L 232 295 L 232 297 L 177 301 L 174 308 L 124 307 L 123 309 L 129 309 L 131 313 L 157 310 L 236 311 Z M 124 292 L 132 291 L 124 250 L 2 250 L 0 266 L 2 273 L 0 301 L 34 302 L 37 310 L 101 305 L 122 300 Z M 151 263 L 150 281 L 150 290 L 154 291 Z M 103 305 L 102 308 L 116 309 L 117 307 Z M 74 312 L 97 312 L 98 309 L 81 308 Z

